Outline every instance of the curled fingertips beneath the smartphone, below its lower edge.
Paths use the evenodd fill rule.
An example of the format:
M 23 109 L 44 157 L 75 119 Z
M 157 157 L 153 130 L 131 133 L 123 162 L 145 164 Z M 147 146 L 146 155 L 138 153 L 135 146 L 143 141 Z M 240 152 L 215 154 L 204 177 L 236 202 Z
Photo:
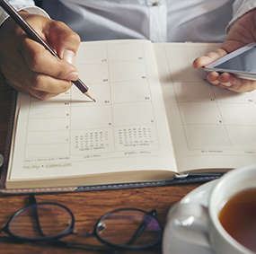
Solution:
M 256 81 L 235 78 L 234 75 L 216 72 L 207 75 L 207 80 L 216 87 L 226 88 L 234 92 L 252 92 L 256 89 Z

